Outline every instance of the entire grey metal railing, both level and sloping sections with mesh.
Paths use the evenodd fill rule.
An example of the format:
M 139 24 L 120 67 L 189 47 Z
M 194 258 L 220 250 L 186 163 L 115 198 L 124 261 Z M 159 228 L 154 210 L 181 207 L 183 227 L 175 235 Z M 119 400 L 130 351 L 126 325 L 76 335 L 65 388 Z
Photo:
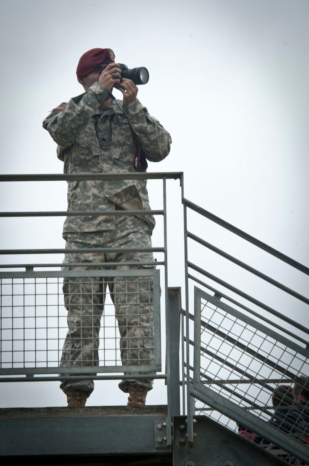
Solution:
M 217 257 L 245 270 L 246 273 L 266 282 L 272 288 L 291 296 L 303 305 L 309 304 L 309 299 L 243 261 L 237 259 L 222 248 L 216 247 L 199 234 L 188 230 L 188 211 L 197 213 L 201 218 L 208 219 L 225 231 L 233 233 L 254 247 L 274 256 L 288 266 L 293 267 L 304 275 L 309 275 L 309 269 L 290 259 L 284 254 L 267 246 L 252 236 L 242 232 L 215 215 L 184 198 L 182 173 L 147 173 L 147 174 L 79 174 L 79 175 L 4 175 L 0 182 L 8 181 L 64 181 L 64 180 L 104 180 L 104 179 L 156 179 L 162 180 L 163 208 L 153 211 L 83 211 L 83 212 L 0 212 L 0 217 L 55 217 L 55 216 L 85 216 L 85 215 L 139 215 L 152 214 L 163 217 L 163 245 L 152 248 L 131 248 L 131 252 L 162 253 L 164 260 L 147 262 L 144 265 L 164 267 L 164 280 L 161 288 L 165 293 L 165 372 L 161 372 L 161 335 L 160 335 L 160 274 L 154 268 L 146 270 L 116 270 L 112 269 L 113 262 L 94 263 L 74 262 L 74 271 L 47 271 L 47 268 L 61 267 L 59 261 L 39 261 L 27 263 L 6 263 L 0 268 L 23 268 L 23 271 L 0 272 L 1 280 L 1 338 L 2 356 L 0 367 L 0 381 L 12 380 L 70 380 L 83 379 L 120 379 L 132 378 L 137 374 L 140 378 L 163 378 L 167 383 L 168 425 L 167 445 L 172 444 L 171 418 L 179 415 L 180 396 L 179 379 L 182 380 L 182 411 L 188 415 L 188 441 L 194 441 L 193 418 L 195 413 L 206 414 L 215 418 L 228 429 L 237 429 L 235 421 L 244 425 L 253 436 L 259 435 L 268 439 L 267 448 L 279 445 L 284 452 L 298 455 L 307 461 L 308 448 L 302 442 L 299 433 L 297 438 L 296 425 L 291 428 L 291 435 L 282 430 L 276 430 L 269 424 L 275 409 L 270 402 L 276 387 L 280 384 L 302 383 L 302 375 L 309 375 L 308 365 L 308 335 L 309 329 L 300 322 L 296 322 L 288 315 L 262 302 L 259 297 L 251 296 L 237 288 L 235 284 L 222 280 L 212 270 L 206 270 L 203 264 L 195 258 L 191 259 L 188 241 L 211 251 Z M 185 258 L 185 286 L 186 304 L 181 309 L 179 289 L 168 290 L 168 235 L 167 235 L 167 192 L 166 180 L 179 179 L 182 190 L 182 204 L 184 208 L 184 258 Z M 192 230 L 192 228 L 190 227 Z M 79 250 L 82 252 L 82 250 Z M 96 252 L 124 253 L 126 248 L 96 248 Z M 69 252 L 60 248 L 48 249 L 7 249 L 0 250 L 0 254 L 22 256 L 30 254 L 36 257 L 40 254 L 64 254 Z M 72 252 L 75 252 L 72 250 Z M 85 253 L 93 249 L 83 250 Z M 124 262 L 121 265 L 136 265 L 134 262 Z M 67 267 L 73 265 L 65 264 Z M 87 267 L 87 271 L 83 268 Z M 34 270 L 36 268 L 45 270 Z M 207 267 L 208 268 L 208 267 Z M 92 269 L 92 270 L 91 270 Z M 190 273 L 189 273 L 190 270 Z M 153 306 L 154 322 L 152 333 L 147 344 L 147 351 L 130 356 L 125 350 L 130 346 L 121 343 L 121 336 L 117 333 L 117 322 L 114 315 L 114 304 L 106 298 L 106 286 L 115 280 L 126 282 L 126 291 L 119 291 L 120 304 L 132 305 L 134 315 L 140 315 L 145 305 Z M 143 287 L 134 288 L 136 280 L 142 278 Z M 208 281 L 205 281 L 205 278 Z M 68 367 L 61 365 L 61 348 L 66 340 L 67 309 L 70 303 L 65 301 L 62 292 L 63 281 L 70 286 L 83 287 L 83 283 L 91 280 L 94 288 L 100 289 L 95 293 L 87 293 L 86 305 L 95 308 L 94 296 L 101 296 L 100 312 L 93 313 L 95 318 L 103 319 L 102 331 L 99 336 L 100 345 L 98 357 L 90 358 L 91 365 Z M 215 283 L 215 285 L 214 285 Z M 203 289 L 193 285 L 198 284 Z M 129 289 L 133 286 L 132 293 Z M 101 288 L 100 288 L 101 287 Z M 220 288 L 219 290 L 217 288 Z M 211 295 L 213 293 L 214 295 Z M 79 295 L 83 293 L 68 293 Z M 130 301 L 132 296 L 138 296 L 137 302 Z M 90 298 L 89 298 L 90 296 Z M 117 298 L 117 299 L 118 299 Z M 194 298 L 194 299 L 193 299 Z M 76 301 L 76 300 L 75 300 Z M 95 304 L 95 305 L 94 305 Z M 76 306 L 76 303 L 75 303 Z M 147 311 L 141 314 L 148 315 Z M 194 313 L 193 313 L 194 309 Z M 179 314 L 180 313 L 180 314 Z M 83 315 L 76 315 L 78 318 Z M 181 321 L 182 340 L 182 373 L 179 371 L 179 322 Z M 193 327 L 193 322 L 194 326 Z M 119 325 L 119 323 L 118 323 Z M 142 325 L 142 324 L 141 324 Z M 78 326 L 77 326 L 78 327 Z M 84 326 L 80 324 L 80 329 Z M 104 330 L 103 330 L 104 327 Z M 139 324 L 137 325 L 139 327 Z M 82 333 L 82 332 L 81 332 Z M 87 344 L 87 336 L 80 336 L 82 346 Z M 122 351 L 122 355 L 121 355 Z M 127 356 L 122 357 L 124 353 Z M 292 359 L 291 359 L 292 358 Z M 130 364 L 134 359 L 134 364 Z M 121 362 L 122 360 L 122 362 Z M 151 361 L 150 361 L 151 360 Z M 127 363 L 124 364 L 124 361 Z M 149 361 L 151 364 L 149 365 Z M 193 361 L 193 363 L 191 363 Z M 70 362 L 70 361 L 69 361 Z M 95 369 L 94 369 L 95 362 Z M 137 362 L 137 364 L 136 364 Z M 178 366 L 178 367 L 177 367 Z M 135 369 L 135 370 L 134 370 Z M 94 375 L 94 370 L 97 375 Z M 124 375 L 120 374 L 125 372 Z M 131 372 L 131 375 L 128 374 Z M 187 388 L 187 390 L 186 390 Z M 200 400 L 202 406 L 195 406 L 195 400 Z M 297 402 L 296 402 L 297 403 Z M 294 404 L 295 409 L 296 404 Z M 297 407 L 297 406 L 296 406 Z M 261 444 L 264 448 L 265 443 Z M 277 451 L 278 452 L 278 451 Z M 283 455 L 284 456 L 284 455 Z M 282 456 L 282 457 L 283 457 Z

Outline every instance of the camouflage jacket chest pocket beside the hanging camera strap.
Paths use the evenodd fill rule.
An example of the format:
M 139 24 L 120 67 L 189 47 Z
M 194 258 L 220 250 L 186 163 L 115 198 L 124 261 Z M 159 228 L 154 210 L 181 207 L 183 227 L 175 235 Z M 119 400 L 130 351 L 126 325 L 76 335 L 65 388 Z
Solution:
M 132 139 L 131 131 L 129 128 L 129 123 L 124 115 L 116 114 L 112 122 L 112 138 L 113 138 L 113 158 L 121 158 L 130 160 L 133 157 L 133 152 L 130 154 L 127 153 L 125 148 L 130 143 L 130 138 Z M 124 142 L 126 141 L 126 144 Z M 133 149 L 134 151 L 134 149 Z

